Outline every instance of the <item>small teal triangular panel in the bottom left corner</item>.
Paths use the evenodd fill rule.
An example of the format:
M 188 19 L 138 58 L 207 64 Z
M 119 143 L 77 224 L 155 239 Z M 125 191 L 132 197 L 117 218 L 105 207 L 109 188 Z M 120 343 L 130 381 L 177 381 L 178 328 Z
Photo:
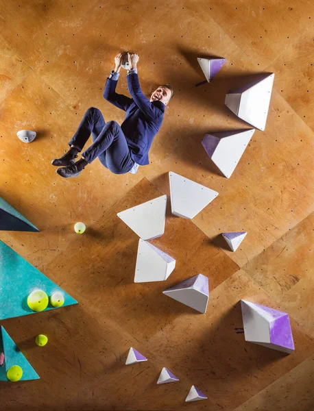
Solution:
M 33 369 L 32 365 L 29 364 L 19 347 L 14 343 L 3 327 L 1 327 L 1 345 L 4 353 L 4 364 L 0 366 L 0 381 L 8 381 L 7 371 L 13 365 L 19 365 L 23 370 L 20 381 L 39 378 L 39 375 Z

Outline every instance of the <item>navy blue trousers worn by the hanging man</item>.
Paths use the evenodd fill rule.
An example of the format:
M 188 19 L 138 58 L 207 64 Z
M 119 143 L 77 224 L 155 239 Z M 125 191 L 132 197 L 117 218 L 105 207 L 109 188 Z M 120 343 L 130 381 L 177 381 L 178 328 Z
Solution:
M 82 153 L 88 163 L 98 157 L 101 164 L 114 174 L 125 174 L 132 169 L 134 160 L 120 125 L 116 121 L 105 123 L 101 111 L 94 107 L 88 108 L 84 114 L 69 145 L 82 151 L 90 134 L 93 144 Z

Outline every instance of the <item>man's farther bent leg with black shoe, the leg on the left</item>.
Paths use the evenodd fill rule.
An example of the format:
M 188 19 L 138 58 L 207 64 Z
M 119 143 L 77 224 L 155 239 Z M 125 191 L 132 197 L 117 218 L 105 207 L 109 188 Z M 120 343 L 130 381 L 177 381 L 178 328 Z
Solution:
M 90 134 L 93 134 L 93 138 L 98 136 L 105 124 L 104 116 L 100 110 L 94 107 L 88 108 L 77 128 L 77 132 L 69 141 L 69 151 L 62 155 L 62 157 L 52 160 L 51 164 L 53 166 L 69 166 L 74 164 L 77 153 L 82 151 Z

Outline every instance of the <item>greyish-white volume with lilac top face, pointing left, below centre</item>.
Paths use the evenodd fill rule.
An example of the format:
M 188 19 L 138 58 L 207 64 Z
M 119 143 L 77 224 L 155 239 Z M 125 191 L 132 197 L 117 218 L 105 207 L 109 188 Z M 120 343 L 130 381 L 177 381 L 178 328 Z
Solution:
M 163 293 L 204 314 L 209 297 L 208 278 L 202 274 L 194 275 L 168 288 Z

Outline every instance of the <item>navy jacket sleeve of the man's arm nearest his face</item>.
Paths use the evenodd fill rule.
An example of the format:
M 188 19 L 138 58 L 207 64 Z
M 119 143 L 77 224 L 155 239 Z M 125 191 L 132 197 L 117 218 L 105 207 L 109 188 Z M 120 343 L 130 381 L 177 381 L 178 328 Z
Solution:
M 128 90 L 130 95 L 137 105 L 137 107 L 143 112 L 149 120 L 156 120 L 160 117 L 163 112 L 156 105 L 152 104 L 147 97 L 143 94 L 141 90 L 140 83 L 138 82 L 138 75 L 136 73 L 130 73 L 127 75 L 128 79 Z M 161 103 L 162 104 L 162 103 Z

